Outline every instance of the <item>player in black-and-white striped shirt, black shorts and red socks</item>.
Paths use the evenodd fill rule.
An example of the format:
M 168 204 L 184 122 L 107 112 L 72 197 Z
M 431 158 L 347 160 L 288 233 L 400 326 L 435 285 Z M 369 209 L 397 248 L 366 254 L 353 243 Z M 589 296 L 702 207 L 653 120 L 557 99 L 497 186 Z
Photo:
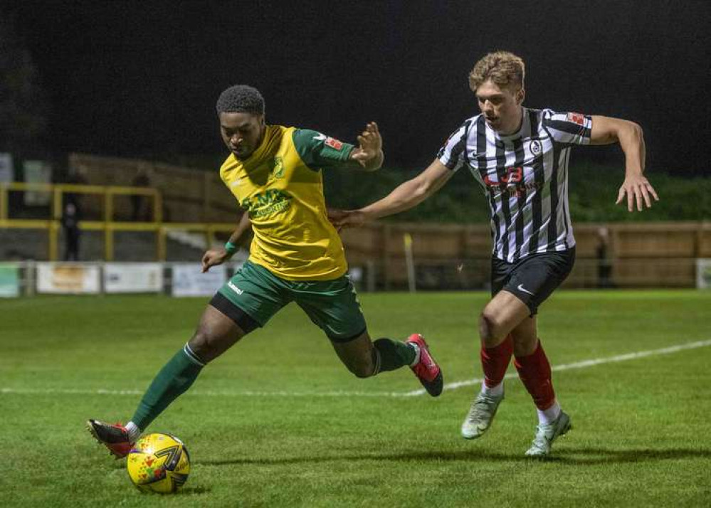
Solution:
M 503 378 L 514 356 L 537 407 L 539 425 L 527 455 L 550 453 L 571 428 L 538 338 L 539 305 L 565 280 L 575 259 L 568 207 L 568 159 L 574 144 L 619 143 L 625 178 L 616 203 L 642 211 L 658 199 L 643 176 L 642 129 L 616 118 L 524 107 L 525 66 L 518 56 L 485 55 L 469 75 L 480 114 L 453 132 L 436 159 L 414 179 L 357 211 L 332 211 L 339 227 L 359 226 L 416 206 L 466 167 L 482 186 L 491 215 L 492 299 L 479 317 L 484 381 L 462 424 L 464 438 L 488 430 L 504 398 Z

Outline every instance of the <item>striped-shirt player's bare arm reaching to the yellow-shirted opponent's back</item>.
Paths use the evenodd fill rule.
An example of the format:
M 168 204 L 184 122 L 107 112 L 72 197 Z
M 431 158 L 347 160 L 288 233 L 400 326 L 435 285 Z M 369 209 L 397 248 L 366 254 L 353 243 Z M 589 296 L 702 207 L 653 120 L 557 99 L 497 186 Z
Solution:
M 400 184 L 394 191 L 375 203 L 359 210 L 330 210 L 330 221 L 337 228 L 348 228 L 362 226 L 376 218 L 409 210 L 438 191 L 453 174 L 451 169 L 435 159 L 414 179 Z

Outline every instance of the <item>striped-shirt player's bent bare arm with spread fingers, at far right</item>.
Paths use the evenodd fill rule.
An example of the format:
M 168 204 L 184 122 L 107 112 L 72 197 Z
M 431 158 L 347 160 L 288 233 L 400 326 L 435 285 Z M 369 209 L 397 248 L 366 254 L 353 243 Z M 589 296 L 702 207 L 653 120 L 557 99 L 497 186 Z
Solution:
M 619 143 L 625 154 L 625 181 L 617 194 L 615 204 L 627 196 L 627 209 L 632 211 L 634 203 L 642 211 L 644 205 L 652 207 L 652 198 L 659 201 L 652 184 L 643 176 L 645 147 L 642 127 L 634 122 L 618 118 L 593 116 L 590 144 Z

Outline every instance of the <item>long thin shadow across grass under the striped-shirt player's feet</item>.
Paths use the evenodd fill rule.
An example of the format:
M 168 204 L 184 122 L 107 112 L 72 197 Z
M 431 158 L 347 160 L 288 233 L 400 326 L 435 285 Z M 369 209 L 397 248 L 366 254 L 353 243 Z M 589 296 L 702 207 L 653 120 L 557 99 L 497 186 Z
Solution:
M 570 465 L 596 465 L 605 463 L 632 463 L 651 460 L 676 460 L 688 458 L 711 458 L 711 450 L 695 450 L 690 448 L 671 448 L 665 450 L 602 450 L 596 448 L 561 448 L 554 454 L 544 458 L 526 457 L 522 453 L 493 453 L 482 450 L 461 450 L 448 452 L 414 452 L 414 453 L 364 453 L 362 455 L 325 455 L 321 457 L 281 457 L 281 458 L 236 458 L 231 460 L 200 460 L 196 465 L 287 465 L 307 464 L 310 462 L 340 462 L 342 460 L 382 460 L 389 462 L 557 462 Z

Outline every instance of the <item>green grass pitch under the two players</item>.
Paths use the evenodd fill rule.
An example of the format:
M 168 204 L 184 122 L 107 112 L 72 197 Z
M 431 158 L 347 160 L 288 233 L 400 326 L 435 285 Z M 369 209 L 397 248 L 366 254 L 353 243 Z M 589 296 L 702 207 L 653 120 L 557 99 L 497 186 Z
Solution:
M 372 337 L 421 332 L 445 383 L 480 377 L 487 295 L 361 295 Z M 84 429 L 126 420 L 207 299 L 0 301 L 3 507 L 680 507 L 711 499 L 711 344 L 554 372 L 573 430 L 524 457 L 520 381 L 489 433 L 460 438 L 476 386 L 440 398 L 409 369 L 357 379 L 291 305 L 208 366 L 149 428 L 192 458 L 179 494 L 141 494 Z M 711 292 L 559 292 L 539 316 L 554 366 L 711 339 Z M 510 372 L 513 372 L 510 367 Z

